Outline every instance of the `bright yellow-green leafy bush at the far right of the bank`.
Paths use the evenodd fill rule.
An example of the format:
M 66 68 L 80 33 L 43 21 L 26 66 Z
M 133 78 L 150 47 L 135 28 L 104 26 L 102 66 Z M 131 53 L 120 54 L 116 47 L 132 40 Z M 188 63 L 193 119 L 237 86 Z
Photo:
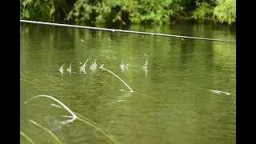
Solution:
M 236 19 L 236 0 L 217 0 L 218 6 L 214 8 L 214 14 L 220 22 L 231 24 Z

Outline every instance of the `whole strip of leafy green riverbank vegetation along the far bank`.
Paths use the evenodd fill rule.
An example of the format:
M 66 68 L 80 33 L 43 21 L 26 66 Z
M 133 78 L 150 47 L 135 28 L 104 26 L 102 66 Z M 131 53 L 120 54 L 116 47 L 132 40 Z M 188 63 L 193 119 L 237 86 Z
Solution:
M 168 24 L 236 20 L 236 0 L 21 0 L 20 18 L 66 23 Z

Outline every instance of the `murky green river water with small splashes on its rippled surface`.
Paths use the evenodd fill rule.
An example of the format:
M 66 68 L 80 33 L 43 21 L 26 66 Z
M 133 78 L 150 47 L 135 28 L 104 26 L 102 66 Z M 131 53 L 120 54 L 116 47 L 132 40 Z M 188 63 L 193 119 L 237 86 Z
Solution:
M 235 40 L 226 26 L 129 30 Z M 58 143 L 43 126 L 70 144 L 233 144 L 235 49 L 226 42 L 22 25 L 21 131 L 35 143 Z M 66 122 L 71 114 L 50 98 L 24 103 L 39 94 L 92 122 Z M 21 143 L 30 142 L 21 135 Z

